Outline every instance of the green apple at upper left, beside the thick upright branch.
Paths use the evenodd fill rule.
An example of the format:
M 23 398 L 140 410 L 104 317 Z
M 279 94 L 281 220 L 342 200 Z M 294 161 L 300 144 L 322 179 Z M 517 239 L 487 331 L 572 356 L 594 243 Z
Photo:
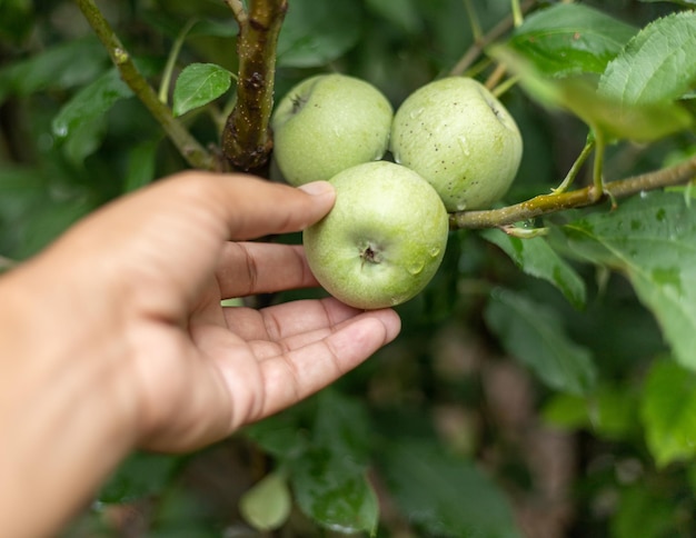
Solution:
M 392 117 L 391 103 L 364 80 L 311 77 L 274 111 L 274 159 L 290 185 L 328 180 L 346 168 L 381 159 Z

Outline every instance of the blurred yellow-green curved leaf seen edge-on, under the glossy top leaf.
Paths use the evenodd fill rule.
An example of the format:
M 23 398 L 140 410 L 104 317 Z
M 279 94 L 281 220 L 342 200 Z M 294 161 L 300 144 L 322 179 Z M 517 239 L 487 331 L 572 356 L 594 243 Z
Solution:
M 546 107 L 571 112 L 609 139 L 649 142 L 693 124 L 692 114 L 677 103 L 622 103 L 600 94 L 584 78 L 545 77 L 509 48 L 495 48 L 490 54 L 520 77 L 520 86 L 533 99 Z

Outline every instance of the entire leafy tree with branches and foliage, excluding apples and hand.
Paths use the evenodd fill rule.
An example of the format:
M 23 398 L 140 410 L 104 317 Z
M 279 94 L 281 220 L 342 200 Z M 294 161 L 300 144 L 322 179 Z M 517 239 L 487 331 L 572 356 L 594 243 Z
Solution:
M 278 180 L 276 103 L 317 74 L 395 110 L 476 80 L 524 146 L 508 190 L 448 208 L 397 341 L 206 450 L 133 454 L 66 536 L 695 536 L 693 6 L 0 3 L 0 270 L 185 168 Z

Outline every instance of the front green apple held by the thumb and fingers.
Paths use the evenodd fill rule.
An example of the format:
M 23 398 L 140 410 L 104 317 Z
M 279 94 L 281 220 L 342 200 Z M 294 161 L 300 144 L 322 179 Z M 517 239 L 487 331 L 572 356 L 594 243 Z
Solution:
M 434 277 L 447 246 L 449 218 L 435 189 L 388 161 L 348 168 L 330 182 L 336 205 L 302 236 L 319 283 L 364 309 L 415 297 Z

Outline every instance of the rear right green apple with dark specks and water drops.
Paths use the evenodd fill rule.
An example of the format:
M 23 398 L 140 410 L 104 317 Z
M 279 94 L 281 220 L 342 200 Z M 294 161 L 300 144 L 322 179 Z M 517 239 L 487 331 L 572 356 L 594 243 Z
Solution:
M 396 162 L 422 176 L 448 211 L 485 209 L 509 189 L 523 153 L 517 123 L 477 80 L 449 77 L 411 93 L 391 128 Z

